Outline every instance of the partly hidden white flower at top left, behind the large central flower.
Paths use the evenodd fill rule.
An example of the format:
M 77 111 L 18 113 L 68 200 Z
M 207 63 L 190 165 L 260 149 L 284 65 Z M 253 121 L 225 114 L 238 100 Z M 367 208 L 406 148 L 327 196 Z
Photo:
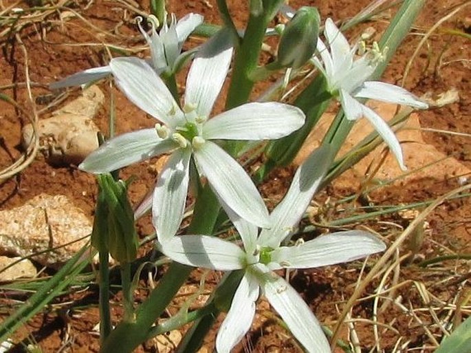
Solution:
M 151 36 L 142 29 L 142 17 L 138 17 L 137 21 L 139 30 L 146 39 L 151 50 L 150 63 L 153 69 L 155 69 L 155 72 L 160 75 L 163 72 L 174 74 L 177 71 L 177 68 L 186 61 L 188 56 L 194 53 L 194 51 L 188 51 L 182 54 L 182 47 L 184 41 L 186 41 L 188 36 L 190 36 L 191 32 L 203 23 L 203 17 L 200 14 L 190 13 L 177 22 L 175 15 L 172 14 L 170 25 L 165 22 L 162 25 L 160 33 L 157 34 L 155 28 L 158 25 L 158 21 L 153 15 L 151 15 L 149 16 L 149 22 L 152 27 Z M 110 65 L 93 67 L 91 69 L 86 69 L 83 72 L 67 76 L 61 81 L 52 83 L 50 85 L 50 89 L 84 85 L 91 81 L 104 78 L 109 74 L 112 74 Z

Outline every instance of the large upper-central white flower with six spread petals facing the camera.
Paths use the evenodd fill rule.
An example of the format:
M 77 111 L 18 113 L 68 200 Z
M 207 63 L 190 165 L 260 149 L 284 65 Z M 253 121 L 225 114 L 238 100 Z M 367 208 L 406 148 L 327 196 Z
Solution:
M 220 47 L 221 43 L 226 46 Z M 105 142 L 79 167 L 104 173 L 171 152 L 153 194 L 153 222 L 160 241 L 175 235 L 182 221 L 192 157 L 199 174 L 232 211 L 267 226 L 267 209 L 249 175 L 211 140 L 281 138 L 304 123 L 300 109 L 282 103 L 248 103 L 208 120 L 230 65 L 232 47 L 226 43 L 215 36 L 199 51 L 188 73 L 183 109 L 146 61 L 113 58 L 109 64 L 122 92 L 162 125 Z

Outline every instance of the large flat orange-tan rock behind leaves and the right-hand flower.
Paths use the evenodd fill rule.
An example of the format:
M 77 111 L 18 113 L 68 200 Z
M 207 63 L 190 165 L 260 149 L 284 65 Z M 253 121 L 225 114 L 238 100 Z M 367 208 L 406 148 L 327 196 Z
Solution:
M 390 120 L 395 115 L 396 105 L 371 102 L 369 106 L 377 111 L 382 118 Z M 300 149 L 298 156 L 294 160 L 294 164 L 299 165 L 314 148 L 320 145 L 320 141 L 325 135 L 325 132 L 329 128 L 331 121 L 333 120 L 333 114 L 325 114 L 320 119 L 316 128 L 308 136 L 305 144 Z M 351 130 L 346 142 L 340 149 L 338 156 L 342 156 L 349 149 L 354 147 L 360 142 L 365 136 L 373 131 L 373 127 L 369 124 L 368 120 L 362 118 L 355 122 L 353 129 Z M 402 178 L 397 179 L 393 184 L 390 185 L 404 185 L 410 184 L 417 180 L 428 178 L 435 180 L 445 180 L 446 178 L 466 175 L 471 173 L 470 169 L 463 166 L 452 157 L 446 156 L 444 153 L 439 152 L 432 145 L 428 145 L 424 138 L 421 136 L 420 122 L 417 113 L 413 113 L 409 116 L 406 124 L 402 126 L 396 133 L 397 138 L 402 142 L 402 150 L 404 152 L 404 162 L 408 168 L 409 175 L 404 175 L 408 172 L 403 172 L 399 169 L 394 156 L 388 152 L 384 163 L 379 167 L 377 173 L 374 175 L 374 179 L 379 182 L 388 182 L 401 175 Z M 334 187 L 341 189 L 355 189 L 357 190 L 366 177 L 366 173 L 369 170 L 373 170 L 382 158 L 385 145 L 382 143 L 376 149 L 371 151 L 369 155 L 360 160 L 358 164 L 353 166 L 348 171 L 344 172 L 340 177 L 336 178 L 333 182 Z M 423 168 L 426 165 L 431 164 L 429 167 Z M 423 168 L 423 169 L 422 169 Z

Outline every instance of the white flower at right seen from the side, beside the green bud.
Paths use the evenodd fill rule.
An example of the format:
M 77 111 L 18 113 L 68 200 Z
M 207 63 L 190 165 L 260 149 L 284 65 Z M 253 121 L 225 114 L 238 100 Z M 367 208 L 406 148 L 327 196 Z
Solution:
M 379 50 L 373 50 L 355 60 L 357 47 L 350 47 L 331 19 L 325 21 L 324 35 L 329 42 L 330 52 L 325 43 L 318 39 L 317 49 L 322 61 L 317 57 L 314 57 L 313 61 L 325 76 L 327 89 L 340 99 L 347 119 L 357 120 L 364 116 L 369 120 L 393 152 L 399 166 L 405 170 L 402 149 L 391 128 L 375 111 L 356 99 L 371 98 L 419 109 L 426 109 L 428 105 L 401 87 L 379 81 L 367 81 L 375 71 L 378 61 L 382 60 Z

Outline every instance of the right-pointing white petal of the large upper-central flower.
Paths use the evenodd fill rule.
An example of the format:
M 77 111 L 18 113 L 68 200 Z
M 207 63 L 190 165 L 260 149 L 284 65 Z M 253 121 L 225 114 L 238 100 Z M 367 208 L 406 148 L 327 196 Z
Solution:
M 203 137 L 226 140 L 274 140 L 303 126 L 303 111 L 283 103 L 248 103 L 215 116 Z

